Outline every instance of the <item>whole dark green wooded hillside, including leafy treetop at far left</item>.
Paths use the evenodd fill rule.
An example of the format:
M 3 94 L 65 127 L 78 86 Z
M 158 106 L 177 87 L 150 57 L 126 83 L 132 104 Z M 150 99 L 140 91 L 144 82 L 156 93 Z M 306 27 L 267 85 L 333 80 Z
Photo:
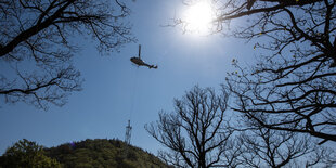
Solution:
M 43 147 L 20 140 L 0 156 L 0 168 L 168 168 L 160 159 L 120 140 L 95 139 Z

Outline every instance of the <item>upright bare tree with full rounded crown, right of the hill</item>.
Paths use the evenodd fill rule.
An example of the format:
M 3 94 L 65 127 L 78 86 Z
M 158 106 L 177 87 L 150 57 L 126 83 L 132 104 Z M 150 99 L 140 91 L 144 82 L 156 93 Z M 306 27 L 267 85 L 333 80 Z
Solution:
M 148 133 L 168 152 L 160 157 L 177 167 L 215 167 L 236 164 L 233 133 L 224 120 L 228 94 L 212 89 L 193 88 L 175 100 L 175 112 L 160 113 L 159 120 L 145 126 Z M 237 151 L 238 152 L 238 151 Z

